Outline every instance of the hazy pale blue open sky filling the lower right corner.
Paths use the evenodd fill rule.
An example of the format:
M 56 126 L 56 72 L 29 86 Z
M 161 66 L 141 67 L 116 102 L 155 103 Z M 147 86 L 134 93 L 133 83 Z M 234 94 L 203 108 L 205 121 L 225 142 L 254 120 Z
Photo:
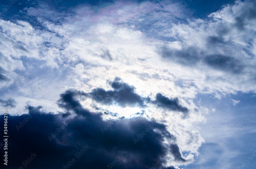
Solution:
M 230 99 L 239 100 L 240 102 L 234 106 Z M 222 99 L 210 95 L 198 95 L 194 101 L 198 102 L 199 100 L 202 106 L 216 106 L 216 111 L 207 116 L 207 119 L 211 120 L 198 125 L 200 127 L 199 132 L 205 139 L 205 143 L 200 147 L 201 156 L 196 158 L 195 164 L 189 164 L 184 168 L 196 168 L 200 164 L 200 168 L 211 168 L 212 166 L 216 168 L 237 168 L 242 163 L 246 164 L 244 168 L 253 168 L 255 166 L 254 159 L 248 164 L 245 159 L 251 156 L 255 150 L 255 130 L 251 130 L 251 126 L 255 125 L 254 93 L 239 92 L 236 95 L 231 94 Z M 248 120 L 245 121 L 243 118 Z M 244 123 L 239 126 L 242 120 Z M 236 125 L 239 127 L 237 130 L 234 129 Z M 234 134 L 231 134 L 231 131 L 234 131 Z M 228 136 L 228 134 L 230 137 L 226 137 L 226 141 L 223 140 L 223 137 Z M 227 156 L 227 154 L 230 155 Z

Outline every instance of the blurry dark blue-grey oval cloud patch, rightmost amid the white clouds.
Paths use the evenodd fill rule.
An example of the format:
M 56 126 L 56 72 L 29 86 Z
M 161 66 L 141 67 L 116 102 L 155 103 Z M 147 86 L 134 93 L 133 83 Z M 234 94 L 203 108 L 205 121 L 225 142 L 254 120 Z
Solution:
M 239 60 L 229 56 L 219 57 L 220 55 L 210 55 L 205 57 L 204 62 L 215 69 L 231 71 L 234 74 L 242 73 L 245 66 Z

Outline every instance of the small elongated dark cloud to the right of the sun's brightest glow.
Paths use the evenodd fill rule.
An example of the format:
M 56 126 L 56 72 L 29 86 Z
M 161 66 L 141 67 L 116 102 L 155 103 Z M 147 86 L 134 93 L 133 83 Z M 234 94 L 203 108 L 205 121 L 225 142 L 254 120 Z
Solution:
M 186 107 L 179 105 L 178 98 L 168 98 L 163 96 L 161 93 L 156 94 L 156 100 L 152 101 L 152 103 L 157 104 L 157 106 L 159 107 L 168 108 L 170 110 L 181 111 L 183 113 L 188 112 L 188 109 Z

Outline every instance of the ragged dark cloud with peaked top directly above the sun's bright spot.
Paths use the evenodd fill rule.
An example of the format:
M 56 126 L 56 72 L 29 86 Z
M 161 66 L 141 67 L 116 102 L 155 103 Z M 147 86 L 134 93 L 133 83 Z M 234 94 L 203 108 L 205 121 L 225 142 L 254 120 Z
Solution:
M 91 97 L 102 104 L 117 103 L 120 106 L 144 106 L 144 101 L 150 101 L 149 98 L 136 94 L 134 86 L 129 86 L 118 77 L 109 84 L 113 90 L 97 88 L 90 93 Z

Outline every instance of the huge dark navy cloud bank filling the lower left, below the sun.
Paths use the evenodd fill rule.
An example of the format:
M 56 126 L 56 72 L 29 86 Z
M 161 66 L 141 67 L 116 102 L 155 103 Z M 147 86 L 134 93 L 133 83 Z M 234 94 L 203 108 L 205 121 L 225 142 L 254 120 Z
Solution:
M 118 86 L 116 84 L 115 87 L 119 88 Z M 76 91 L 61 94 L 59 105 L 67 111 L 65 118 L 61 114 L 45 113 L 40 106 L 27 106 L 29 115 L 8 116 L 8 124 L 13 126 L 8 128 L 9 168 L 22 166 L 27 169 L 57 169 L 63 168 L 63 165 L 74 158 L 76 161 L 70 168 L 104 169 L 110 168 L 107 165 L 119 157 L 121 160 L 116 162 L 113 168 L 146 169 L 151 167 L 152 163 L 162 161 L 158 166 L 161 169 L 166 163 L 163 159 L 167 153 L 173 154 L 177 161 L 185 161 L 176 144 L 164 143 L 166 139 L 175 142 L 175 137 L 167 131 L 164 124 L 142 118 L 104 121 L 102 114 L 82 108 L 75 99 L 80 94 Z M 71 110 L 75 114 L 70 114 Z M 0 118 L 3 125 L 3 115 Z M 65 122 L 67 119 L 70 120 Z M 149 131 L 135 144 L 133 139 L 139 139 L 138 135 L 147 128 Z M 52 132 L 56 137 L 50 138 L 50 141 Z M 78 156 L 76 153 L 82 150 L 84 145 L 89 148 Z M 31 153 L 37 156 L 24 167 L 22 163 Z

